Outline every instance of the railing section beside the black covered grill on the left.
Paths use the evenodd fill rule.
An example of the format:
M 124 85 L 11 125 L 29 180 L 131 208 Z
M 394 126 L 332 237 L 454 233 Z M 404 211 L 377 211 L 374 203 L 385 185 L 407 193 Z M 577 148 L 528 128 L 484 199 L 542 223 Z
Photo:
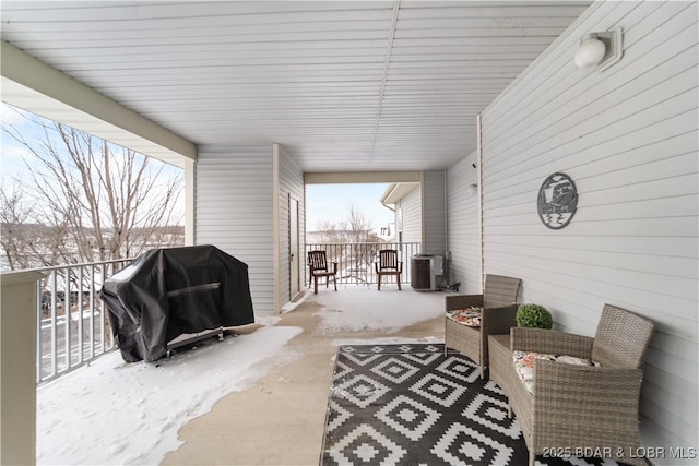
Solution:
M 115 349 L 99 299 L 105 278 L 132 259 L 35 268 L 37 282 L 36 380 L 48 382 Z

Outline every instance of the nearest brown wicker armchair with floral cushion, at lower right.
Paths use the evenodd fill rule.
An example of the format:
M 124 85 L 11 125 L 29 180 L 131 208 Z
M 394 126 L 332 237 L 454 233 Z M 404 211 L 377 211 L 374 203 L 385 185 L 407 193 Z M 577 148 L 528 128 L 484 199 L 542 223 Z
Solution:
M 509 358 L 506 361 L 494 353 L 493 371 L 498 379 L 507 371 L 505 377 L 509 380 L 502 382 L 502 389 L 524 433 L 530 465 L 544 453 L 645 464 L 643 458 L 629 457 L 629 452 L 641 447 L 641 363 L 653 330 L 652 322 L 609 304 L 604 306 L 594 338 L 550 330 L 512 328 Z M 600 367 L 535 359 L 530 394 L 513 368 L 514 350 L 590 358 Z M 499 368 L 500 365 L 508 368 Z

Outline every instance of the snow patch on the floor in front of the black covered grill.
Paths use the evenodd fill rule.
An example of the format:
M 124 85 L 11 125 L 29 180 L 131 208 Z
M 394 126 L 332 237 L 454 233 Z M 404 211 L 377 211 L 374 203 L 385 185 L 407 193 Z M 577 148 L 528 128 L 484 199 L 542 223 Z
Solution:
M 187 421 L 264 375 L 265 361 L 300 356 L 283 350 L 300 332 L 265 326 L 155 363 L 127 365 L 114 351 L 39 387 L 37 464 L 161 463 Z

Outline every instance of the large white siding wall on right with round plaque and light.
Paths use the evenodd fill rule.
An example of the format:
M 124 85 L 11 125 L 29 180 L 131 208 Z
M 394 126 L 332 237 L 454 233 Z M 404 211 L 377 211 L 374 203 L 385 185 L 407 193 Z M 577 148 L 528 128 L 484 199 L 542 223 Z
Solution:
M 579 38 L 613 27 L 621 61 L 577 69 Z M 654 447 L 698 438 L 698 37 L 696 2 L 597 2 L 483 112 L 485 272 L 521 277 L 565 331 L 592 335 L 605 302 L 655 321 L 641 394 Z M 555 171 L 579 192 L 562 230 L 536 214 Z

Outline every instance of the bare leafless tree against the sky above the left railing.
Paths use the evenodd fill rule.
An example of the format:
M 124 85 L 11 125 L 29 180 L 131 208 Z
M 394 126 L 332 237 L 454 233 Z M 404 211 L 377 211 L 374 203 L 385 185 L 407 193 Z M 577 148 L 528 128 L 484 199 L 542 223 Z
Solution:
M 166 242 L 153 244 L 158 228 L 181 223 L 175 211 L 181 172 L 166 174 L 165 164 L 134 151 L 21 113 L 40 132 L 27 135 L 14 124 L 3 124 L 3 132 L 33 155 L 32 163 L 26 162 L 31 181 L 20 180 L 19 192 L 28 193 L 34 222 L 58 234 L 44 238 L 44 248 L 34 251 L 37 260 L 56 264 L 122 259 L 180 238 L 161 235 Z

